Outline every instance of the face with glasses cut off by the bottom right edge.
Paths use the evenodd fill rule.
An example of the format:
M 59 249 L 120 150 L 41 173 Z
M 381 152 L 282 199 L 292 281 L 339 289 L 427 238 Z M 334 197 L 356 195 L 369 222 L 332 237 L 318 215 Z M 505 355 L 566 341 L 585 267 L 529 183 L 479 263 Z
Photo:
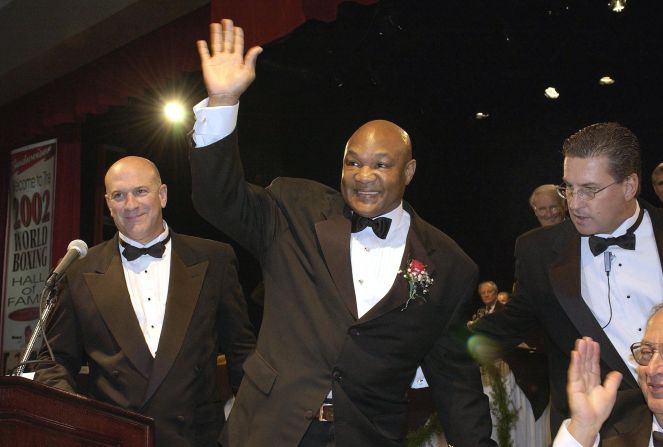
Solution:
M 643 342 L 660 346 L 663 343 L 663 311 L 658 311 L 647 324 Z M 638 366 L 638 383 L 649 409 L 661 421 L 663 417 L 663 359 L 654 354 L 647 366 Z

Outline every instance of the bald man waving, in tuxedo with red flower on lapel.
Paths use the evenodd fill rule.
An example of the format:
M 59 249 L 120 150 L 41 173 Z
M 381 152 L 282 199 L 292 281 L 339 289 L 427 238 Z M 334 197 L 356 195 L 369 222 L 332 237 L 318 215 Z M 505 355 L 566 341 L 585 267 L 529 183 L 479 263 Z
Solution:
M 418 365 L 449 442 L 495 445 L 478 367 L 465 348 L 476 265 L 402 200 L 408 134 L 383 120 L 348 140 L 341 192 L 278 178 L 248 184 L 235 117 L 261 51 L 232 21 L 198 42 L 209 98 L 194 107 L 193 201 L 259 260 L 258 345 L 224 429 L 232 447 L 402 445 Z

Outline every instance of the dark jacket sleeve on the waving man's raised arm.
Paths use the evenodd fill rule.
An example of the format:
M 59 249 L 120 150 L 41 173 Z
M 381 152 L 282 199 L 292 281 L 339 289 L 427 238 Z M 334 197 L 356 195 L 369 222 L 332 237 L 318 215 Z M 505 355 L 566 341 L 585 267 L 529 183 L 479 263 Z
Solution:
M 260 258 L 283 228 L 275 200 L 244 180 L 237 131 L 190 152 L 194 207 L 212 225 Z

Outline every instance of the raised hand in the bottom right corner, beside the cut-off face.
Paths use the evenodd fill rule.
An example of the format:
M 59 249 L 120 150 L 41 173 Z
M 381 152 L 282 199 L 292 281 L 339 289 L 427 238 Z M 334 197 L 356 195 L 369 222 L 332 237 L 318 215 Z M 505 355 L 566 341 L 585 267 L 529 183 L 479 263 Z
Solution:
M 590 337 L 576 340 L 575 349 L 571 351 L 566 386 L 571 422 L 567 428 L 583 446 L 593 444 L 615 405 L 617 388 L 622 380 L 620 373 L 612 371 L 601 385 L 600 356 L 599 344 Z

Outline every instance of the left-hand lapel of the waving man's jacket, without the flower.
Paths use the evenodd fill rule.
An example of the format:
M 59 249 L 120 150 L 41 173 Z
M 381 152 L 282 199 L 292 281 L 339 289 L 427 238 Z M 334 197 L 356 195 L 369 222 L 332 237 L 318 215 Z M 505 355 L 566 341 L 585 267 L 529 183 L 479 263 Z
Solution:
M 357 298 L 352 282 L 350 219 L 342 214 L 315 224 L 320 249 L 336 289 L 352 316 L 357 319 Z

